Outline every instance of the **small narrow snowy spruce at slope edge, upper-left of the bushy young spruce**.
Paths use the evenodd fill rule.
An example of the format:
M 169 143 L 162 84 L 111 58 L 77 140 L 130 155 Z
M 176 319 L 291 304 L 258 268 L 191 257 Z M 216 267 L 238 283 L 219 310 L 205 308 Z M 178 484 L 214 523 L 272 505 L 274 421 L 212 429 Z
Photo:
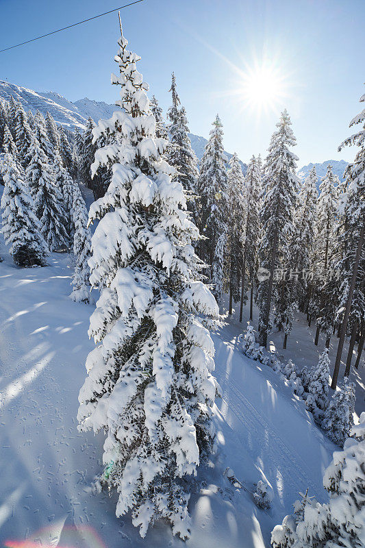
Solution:
M 323 418 L 323 412 L 327 407 L 328 389 L 329 389 L 329 357 L 328 349 L 325 348 L 320 355 L 318 364 L 312 367 L 310 371 L 310 385 L 308 386 L 308 396 L 305 405 L 309 408 L 316 418 Z

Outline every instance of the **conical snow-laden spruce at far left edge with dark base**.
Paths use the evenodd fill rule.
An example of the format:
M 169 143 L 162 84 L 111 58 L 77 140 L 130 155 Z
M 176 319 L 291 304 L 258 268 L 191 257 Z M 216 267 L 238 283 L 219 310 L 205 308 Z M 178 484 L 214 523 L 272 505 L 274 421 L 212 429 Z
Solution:
M 5 127 L 5 133 L 9 133 Z M 34 215 L 34 203 L 24 182 L 24 172 L 16 155 L 5 153 L 5 188 L 1 197 L 2 228 L 5 244 L 18 266 L 45 266 L 49 255 Z

